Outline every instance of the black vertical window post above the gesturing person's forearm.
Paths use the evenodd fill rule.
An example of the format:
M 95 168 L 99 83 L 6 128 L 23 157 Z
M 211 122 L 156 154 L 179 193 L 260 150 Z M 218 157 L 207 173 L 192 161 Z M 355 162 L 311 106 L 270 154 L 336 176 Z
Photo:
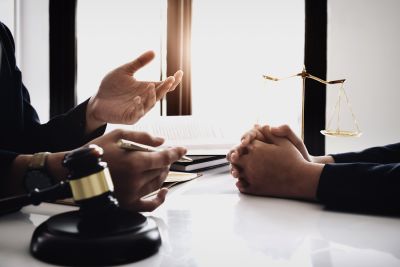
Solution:
M 50 0 L 50 116 L 76 105 L 77 0 Z

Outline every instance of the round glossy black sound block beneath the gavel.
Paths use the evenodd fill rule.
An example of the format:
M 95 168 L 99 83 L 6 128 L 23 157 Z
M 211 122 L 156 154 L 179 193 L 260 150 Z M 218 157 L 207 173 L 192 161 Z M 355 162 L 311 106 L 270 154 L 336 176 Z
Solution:
M 70 266 L 104 266 L 139 261 L 157 253 L 156 223 L 140 213 L 113 210 L 102 216 L 62 213 L 33 233 L 30 251 L 42 261 Z

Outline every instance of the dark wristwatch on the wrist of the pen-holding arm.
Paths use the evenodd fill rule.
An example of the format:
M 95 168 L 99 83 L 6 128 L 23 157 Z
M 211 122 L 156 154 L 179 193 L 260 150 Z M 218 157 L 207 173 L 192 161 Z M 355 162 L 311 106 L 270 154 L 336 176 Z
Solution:
M 54 184 L 52 177 L 46 172 L 46 159 L 49 154 L 49 152 L 33 154 L 24 176 L 24 186 L 28 193 L 36 188 L 40 190 Z

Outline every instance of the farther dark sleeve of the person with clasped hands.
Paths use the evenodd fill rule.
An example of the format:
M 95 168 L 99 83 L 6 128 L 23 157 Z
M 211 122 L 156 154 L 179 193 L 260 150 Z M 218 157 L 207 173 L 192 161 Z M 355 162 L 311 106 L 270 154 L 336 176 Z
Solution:
M 333 154 L 331 156 L 334 158 L 336 163 L 396 163 L 400 162 L 400 143 L 381 147 L 372 147 L 360 152 Z

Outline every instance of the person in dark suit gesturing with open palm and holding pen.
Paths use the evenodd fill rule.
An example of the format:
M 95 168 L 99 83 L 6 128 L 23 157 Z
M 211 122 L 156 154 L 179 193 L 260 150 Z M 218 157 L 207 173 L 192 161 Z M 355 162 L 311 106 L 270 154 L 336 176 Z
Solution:
M 169 165 L 181 158 L 184 148 L 162 152 L 127 152 L 117 145 L 120 138 L 158 146 L 162 138 L 143 132 L 115 130 L 103 135 L 106 123 L 133 124 L 146 114 L 182 79 L 182 71 L 161 82 L 135 79 L 134 73 L 149 63 L 148 51 L 136 60 L 108 73 L 96 95 L 69 112 L 41 124 L 30 104 L 28 90 L 16 65 L 15 46 L 9 29 L 0 22 L 0 197 L 25 193 L 24 176 L 34 153 L 45 153 L 45 171 L 55 180 L 66 177 L 64 155 L 88 143 L 104 149 L 103 159 L 113 177 L 115 193 L 122 207 L 150 211 L 165 199 L 166 190 L 151 200 L 142 196 L 159 189 Z

